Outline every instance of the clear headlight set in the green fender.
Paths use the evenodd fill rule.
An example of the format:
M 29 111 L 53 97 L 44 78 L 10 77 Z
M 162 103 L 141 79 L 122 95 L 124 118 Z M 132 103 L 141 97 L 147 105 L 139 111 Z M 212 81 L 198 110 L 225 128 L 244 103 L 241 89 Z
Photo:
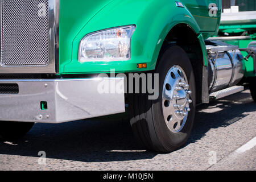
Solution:
M 94 32 L 82 38 L 79 61 L 130 60 L 135 25 Z

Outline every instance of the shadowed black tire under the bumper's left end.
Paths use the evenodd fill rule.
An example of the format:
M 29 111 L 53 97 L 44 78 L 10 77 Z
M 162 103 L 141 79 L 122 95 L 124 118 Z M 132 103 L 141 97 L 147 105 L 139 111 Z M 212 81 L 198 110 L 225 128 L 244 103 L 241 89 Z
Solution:
M 32 122 L 0 121 L 0 138 L 16 140 L 22 138 L 34 126 Z

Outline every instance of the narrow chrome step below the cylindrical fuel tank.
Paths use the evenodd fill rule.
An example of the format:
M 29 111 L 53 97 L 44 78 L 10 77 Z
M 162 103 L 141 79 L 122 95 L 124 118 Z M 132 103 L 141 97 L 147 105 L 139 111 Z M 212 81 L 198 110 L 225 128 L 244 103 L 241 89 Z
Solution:
M 211 93 L 210 98 L 216 100 L 234 93 L 242 92 L 244 89 L 245 88 L 243 86 L 232 86 L 230 88 Z

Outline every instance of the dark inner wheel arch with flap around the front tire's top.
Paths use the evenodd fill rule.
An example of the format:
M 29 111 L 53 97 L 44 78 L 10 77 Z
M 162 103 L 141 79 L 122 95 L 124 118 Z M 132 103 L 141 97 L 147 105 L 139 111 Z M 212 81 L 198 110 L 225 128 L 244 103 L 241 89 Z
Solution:
M 206 68 L 208 66 L 207 52 L 203 35 L 195 31 L 187 23 L 178 23 L 168 32 L 164 38 L 160 55 L 170 46 L 180 46 L 187 53 L 191 61 L 196 78 L 197 103 L 208 103 L 208 79 Z M 158 66 L 158 61 L 156 67 Z

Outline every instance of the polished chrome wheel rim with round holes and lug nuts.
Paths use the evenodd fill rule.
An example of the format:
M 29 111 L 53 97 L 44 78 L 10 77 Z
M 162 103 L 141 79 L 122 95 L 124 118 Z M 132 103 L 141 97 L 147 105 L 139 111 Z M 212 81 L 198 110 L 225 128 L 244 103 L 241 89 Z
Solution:
M 164 121 L 173 133 L 181 131 L 187 121 L 191 93 L 184 70 L 178 65 L 171 67 L 163 84 L 162 107 Z

